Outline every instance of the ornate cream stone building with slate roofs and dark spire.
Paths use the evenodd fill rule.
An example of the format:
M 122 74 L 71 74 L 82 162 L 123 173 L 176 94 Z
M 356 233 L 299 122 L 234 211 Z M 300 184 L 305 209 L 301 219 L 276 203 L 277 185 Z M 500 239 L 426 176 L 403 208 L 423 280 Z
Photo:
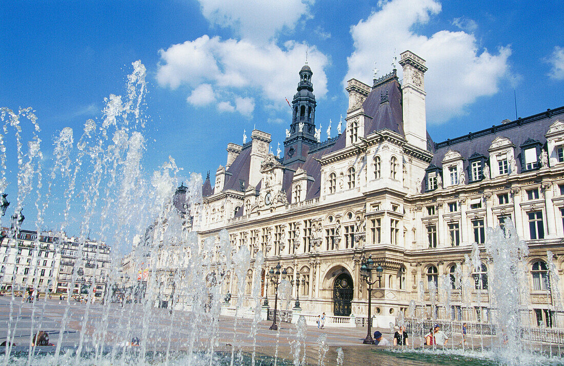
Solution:
M 425 60 L 406 51 L 399 63 L 402 82 L 394 69 L 372 85 L 347 83 L 346 126 L 324 142 L 305 65 L 284 156 L 268 153 L 271 135 L 263 131 L 252 131 L 243 145 L 228 144 L 213 189 L 209 176 L 202 188 L 194 219 L 200 239 L 227 229 L 234 248 L 262 250 L 267 267 L 280 263 L 294 284 L 300 280 L 305 314 L 365 316 L 360 261 L 372 255 L 383 268 L 372 292 L 372 314 L 381 324 L 406 312 L 412 300 L 430 308 L 429 289 L 449 280 L 449 308 L 440 294 L 435 301 L 439 318 L 484 322 L 490 314 L 486 228 L 510 219 L 530 250 L 524 319 L 555 326 L 564 281 L 550 281 L 548 267 L 554 262 L 562 279 L 564 107 L 434 142 L 426 131 Z M 465 261 L 473 242 L 478 269 Z M 455 286 L 455 274 L 472 286 Z M 253 277 L 265 281 L 264 272 L 251 269 L 248 276 L 245 294 L 233 286 L 226 291 L 248 296 Z M 272 287 L 268 296 L 274 297 Z

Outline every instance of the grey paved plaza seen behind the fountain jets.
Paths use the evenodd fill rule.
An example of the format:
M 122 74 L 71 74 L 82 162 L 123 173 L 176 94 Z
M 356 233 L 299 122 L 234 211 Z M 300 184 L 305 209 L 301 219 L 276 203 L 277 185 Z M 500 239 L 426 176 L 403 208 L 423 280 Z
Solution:
M 17 349 L 24 350 L 29 345 L 30 328 L 46 330 L 50 334 L 50 342 L 58 343 L 61 331 L 61 319 L 63 319 L 67 301 L 59 301 L 59 299 L 39 299 L 34 304 L 22 302 L 21 298 L 16 298 L 13 307 L 10 306 L 10 297 L 0 297 L 0 342 L 4 341 L 7 336 L 7 326 L 10 323 L 11 329 L 15 329 L 14 343 Z M 85 319 L 86 311 L 88 320 L 85 324 L 84 333 L 84 349 L 92 349 L 92 338 L 102 327 L 107 325 L 107 333 L 105 334 L 105 342 L 109 346 L 120 345 L 127 342 L 127 338 L 142 338 L 146 334 L 147 349 L 154 351 L 164 351 L 170 346 L 173 351 L 186 351 L 190 339 L 193 337 L 190 330 L 191 314 L 183 311 L 174 311 L 171 316 L 168 309 L 150 308 L 151 314 L 146 317 L 148 332 L 143 333 L 140 324 L 143 321 L 143 307 L 140 304 L 126 304 L 123 307 L 119 304 L 111 304 L 109 311 L 102 305 L 90 305 L 88 308 L 83 303 L 75 301 L 70 302 L 68 308 L 68 322 L 65 325 L 61 346 L 64 348 L 76 348 L 82 329 L 82 322 Z M 11 316 L 10 316 L 11 311 Z M 32 317 L 33 316 L 33 317 Z M 107 318 L 104 318 L 107 317 Z M 172 320 L 172 324 L 171 324 Z M 41 324 L 39 324 L 41 322 Z M 253 348 L 265 355 L 277 355 L 280 358 L 291 360 L 291 345 L 296 340 L 296 326 L 294 324 L 280 324 L 279 332 L 268 329 L 272 324 L 271 321 L 261 321 L 259 323 L 257 337 L 253 339 L 249 336 L 251 321 L 249 319 L 239 319 L 236 324 L 235 342 L 233 342 L 233 334 L 235 321 L 233 318 L 222 317 L 216 324 L 213 334 L 216 335 L 215 350 L 230 351 L 231 345 L 235 344 L 237 349 L 252 352 Z M 211 327 L 211 324 L 209 325 Z M 376 329 L 373 329 L 376 330 Z M 391 339 L 389 329 L 378 328 L 385 337 Z M 199 348 L 202 345 L 209 345 L 209 339 L 201 334 L 205 334 L 202 329 L 199 332 Z M 326 359 L 328 365 L 336 364 L 337 349 L 341 347 L 345 355 L 343 364 L 358 364 L 359 362 L 368 364 L 380 364 L 386 359 L 387 355 L 379 351 L 383 347 L 374 347 L 371 345 L 363 345 L 362 341 L 366 336 L 366 328 L 332 328 L 317 329 L 316 327 L 307 327 L 306 332 L 306 359 L 309 364 L 318 364 L 318 338 L 322 334 L 327 334 L 326 345 L 328 351 Z M 420 337 L 411 337 L 410 341 L 414 343 L 416 348 L 421 347 Z M 459 343 L 459 339 L 453 339 L 455 345 Z M 469 338 L 469 342 L 472 338 Z M 479 347 L 479 342 L 475 342 L 475 347 Z M 486 346 L 489 346 L 490 340 L 484 339 Z M 386 347 L 387 349 L 387 347 Z M 3 352 L 3 348 L 0 350 Z M 374 363 L 374 360 L 380 360 Z M 425 364 L 416 360 L 399 360 L 391 361 L 391 364 Z

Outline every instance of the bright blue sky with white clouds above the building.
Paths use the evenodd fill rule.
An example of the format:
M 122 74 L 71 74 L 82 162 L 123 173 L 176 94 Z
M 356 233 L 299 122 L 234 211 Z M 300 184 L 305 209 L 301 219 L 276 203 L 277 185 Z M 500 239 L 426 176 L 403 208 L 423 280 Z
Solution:
M 11 1 L 0 11 L 0 107 L 33 107 L 46 155 L 63 127 L 80 130 L 125 93 L 135 60 L 147 68 L 143 165 L 171 156 L 184 176 L 213 177 L 244 129 L 272 133 L 273 149 L 283 142 L 306 50 L 322 136 L 346 113 L 344 82 L 371 83 L 374 61 L 387 73 L 406 49 L 427 60 L 435 141 L 513 119 L 514 89 L 520 117 L 564 104 L 561 1 Z

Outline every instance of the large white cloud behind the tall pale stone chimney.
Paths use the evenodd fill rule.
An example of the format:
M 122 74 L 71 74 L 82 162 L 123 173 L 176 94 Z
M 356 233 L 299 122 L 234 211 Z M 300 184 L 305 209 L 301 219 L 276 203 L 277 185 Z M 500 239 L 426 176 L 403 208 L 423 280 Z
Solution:
M 440 30 L 427 37 L 413 30 L 440 10 L 434 0 L 381 3 L 379 10 L 351 27 L 355 50 L 347 59 L 349 70 L 343 83 L 350 78 L 371 83 L 374 61 L 381 75 L 391 71 L 394 51 L 411 50 L 429 68 L 425 73 L 428 122 L 448 121 L 477 98 L 495 94 L 500 81 L 509 76 L 510 48 L 490 53 L 479 50 L 473 34 Z

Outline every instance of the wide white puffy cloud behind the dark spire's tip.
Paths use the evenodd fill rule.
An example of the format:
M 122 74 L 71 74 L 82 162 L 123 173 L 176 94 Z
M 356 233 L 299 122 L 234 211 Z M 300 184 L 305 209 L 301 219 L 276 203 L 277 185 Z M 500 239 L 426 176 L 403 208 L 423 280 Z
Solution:
M 160 50 L 157 81 L 171 89 L 179 85 L 197 89 L 207 84 L 215 91 L 216 99 L 231 99 L 228 105 L 231 108 L 235 108 L 233 104 L 239 106 L 236 110 L 242 114 L 252 113 L 254 99 L 250 103 L 250 100 L 241 98 L 237 103 L 233 96 L 261 98 L 267 102 L 265 107 L 281 109 L 286 104 L 284 98 L 292 100 L 296 92 L 298 72 L 305 61 L 307 49 L 305 43 L 294 41 L 279 47 L 275 42 L 257 45 L 246 39 L 237 41 L 202 36 Z M 324 98 L 327 94 L 324 70 L 329 60 L 315 46 L 309 46 L 307 59 L 314 72 L 312 82 L 316 97 Z M 230 110 L 226 104 L 222 104 L 222 108 L 223 111 Z

